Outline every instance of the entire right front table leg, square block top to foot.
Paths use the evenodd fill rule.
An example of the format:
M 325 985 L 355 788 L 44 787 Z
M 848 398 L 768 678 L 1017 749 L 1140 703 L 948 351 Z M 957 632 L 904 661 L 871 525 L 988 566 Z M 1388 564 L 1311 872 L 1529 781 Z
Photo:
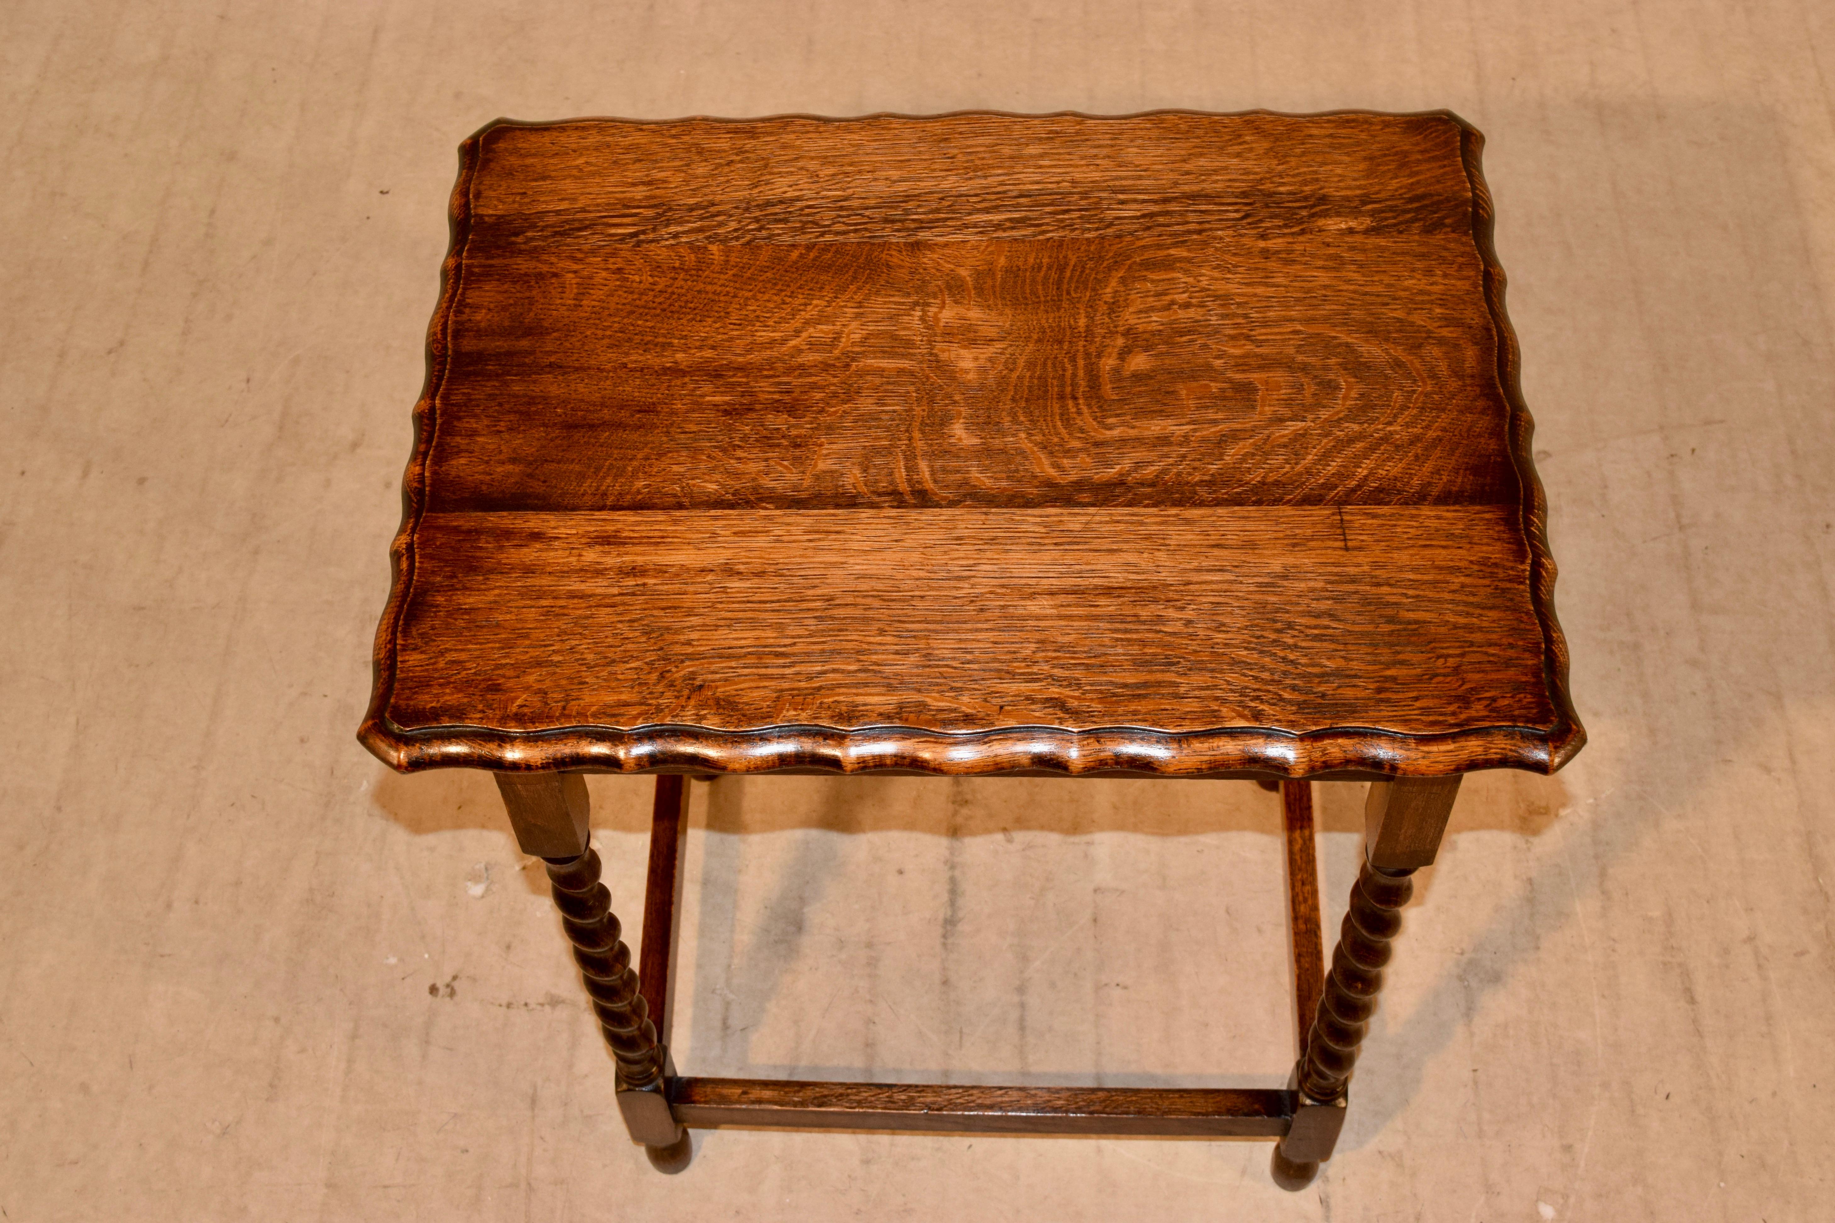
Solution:
M 1402 906 L 1415 891 L 1411 875 L 1433 864 L 1459 794 L 1459 777 L 1398 777 L 1371 785 L 1363 807 L 1363 865 L 1351 887 L 1325 992 L 1294 1069 L 1299 1107 L 1275 1144 L 1273 1179 L 1303 1188 L 1332 1157 L 1345 1124 L 1347 1089 L 1358 1049 L 1382 992 L 1382 970 L 1402 928 Z

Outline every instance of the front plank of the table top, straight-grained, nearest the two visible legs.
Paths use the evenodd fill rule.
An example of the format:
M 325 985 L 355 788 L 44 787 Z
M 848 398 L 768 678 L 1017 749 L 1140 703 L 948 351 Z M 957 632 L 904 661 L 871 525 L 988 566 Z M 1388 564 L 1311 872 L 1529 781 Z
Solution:
M 1514 682 L 1540 653 L 1527 598 L 1497 598 L 1527 572 L 1501 506 L 440 513 L 420 539 L 398 726 L 455 704 L 508 732 L 1552 717 Z M 1294 667 L 1296 605 L 1329 609 L 1307 629 L 1329 667 Z

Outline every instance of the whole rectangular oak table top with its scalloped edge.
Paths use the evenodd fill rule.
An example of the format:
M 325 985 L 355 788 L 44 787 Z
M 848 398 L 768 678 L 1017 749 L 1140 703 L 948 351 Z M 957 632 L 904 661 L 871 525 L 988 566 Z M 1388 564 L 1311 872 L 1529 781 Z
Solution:
M 396 768 L 1552 772 L 1450 114 L 494 123 L 361 741 Z

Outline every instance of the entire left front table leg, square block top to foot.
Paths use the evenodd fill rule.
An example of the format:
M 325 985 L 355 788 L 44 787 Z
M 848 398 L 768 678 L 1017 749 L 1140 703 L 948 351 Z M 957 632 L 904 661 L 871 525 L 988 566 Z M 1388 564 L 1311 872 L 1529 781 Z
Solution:
M 611 911 L 611 893 L 598 882 L 598 854 L 589 843 L 585 779 L 580 774 L 497 774 L 523 853 L 547 862 L 549 891 L 593 999 L 600 1034 L 617 1062 L 617 1098 L 631 1139 L 653 1164 L 675 1172 L 688 1162 L 688 1131 L 670 1113 L 664 1095 L 664 1051 L 650 1007 L 631 970 L 631 948 Z

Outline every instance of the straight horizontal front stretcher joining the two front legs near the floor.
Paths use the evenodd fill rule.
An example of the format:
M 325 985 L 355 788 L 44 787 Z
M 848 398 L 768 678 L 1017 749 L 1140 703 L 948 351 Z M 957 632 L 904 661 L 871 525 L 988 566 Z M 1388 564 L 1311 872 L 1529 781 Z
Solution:
M 947 1087 L 675 1078 L 684 1126 L 1279 1137 L 1290 1091 L 1165 1087 Z

